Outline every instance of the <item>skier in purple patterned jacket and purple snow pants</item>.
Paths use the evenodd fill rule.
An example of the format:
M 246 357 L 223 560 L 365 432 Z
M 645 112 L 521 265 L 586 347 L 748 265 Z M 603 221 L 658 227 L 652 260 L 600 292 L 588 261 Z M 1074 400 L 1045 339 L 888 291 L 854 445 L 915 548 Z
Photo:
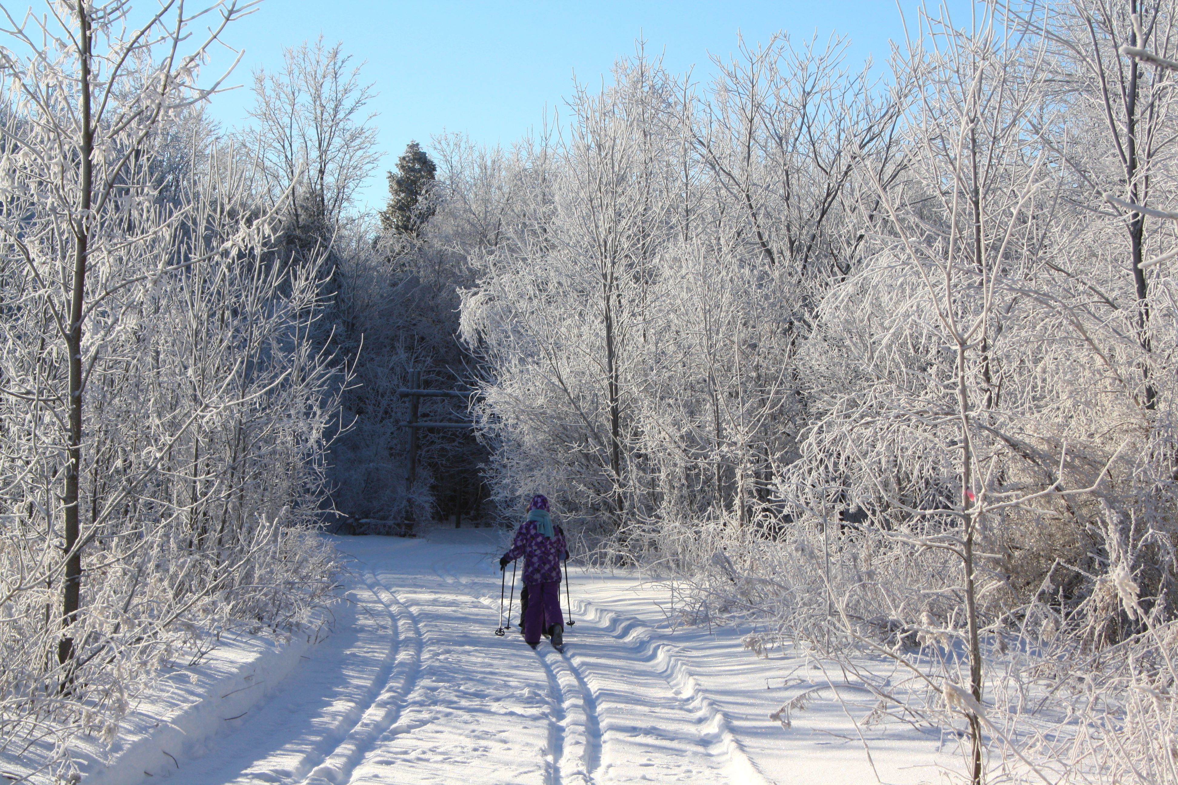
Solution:
M 499 570 L 524 557 L 523 583 L 528 587 L 523 639 L 535 648 L 545 631 L 552 646 L 564 644 L 564 616 L 561 613 L 561 557 L 568 558 L 564 532 L 552 524 L 548 498 L 537 493 L 528 505 L 528 520 L 516 532 L 511 550 L 499 559 Z

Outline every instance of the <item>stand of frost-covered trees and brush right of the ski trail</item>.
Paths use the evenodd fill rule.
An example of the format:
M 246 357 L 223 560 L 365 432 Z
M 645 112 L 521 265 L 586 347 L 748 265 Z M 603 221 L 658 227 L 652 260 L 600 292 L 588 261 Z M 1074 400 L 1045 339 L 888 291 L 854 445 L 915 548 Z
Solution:
M 640 52 L 563 134 L 444 157 L 501 498 L 894 657 L 973 781 L 1172 781 L 1174 11 L 922 13 L 879 85 Z

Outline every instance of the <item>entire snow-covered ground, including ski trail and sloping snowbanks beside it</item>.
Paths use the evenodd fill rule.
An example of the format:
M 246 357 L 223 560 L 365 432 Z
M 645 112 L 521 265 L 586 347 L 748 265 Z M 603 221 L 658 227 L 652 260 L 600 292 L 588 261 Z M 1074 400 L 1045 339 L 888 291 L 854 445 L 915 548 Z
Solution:
M 353 561 L 330 634 L 227 641 L 82 781 L 907 784 L 958 767 L 948 736 L 853 721 L 878 703 L 854 679 L 755 657 L 748 630 L 676 624 L 635 576 L 573 570 L 562 656 L 514 624 L 494 634 L 503 548 L 487 530 L 337 544 Z M 789 727 L 769 718 L 827 679 L 839 690 L 796 701 Z

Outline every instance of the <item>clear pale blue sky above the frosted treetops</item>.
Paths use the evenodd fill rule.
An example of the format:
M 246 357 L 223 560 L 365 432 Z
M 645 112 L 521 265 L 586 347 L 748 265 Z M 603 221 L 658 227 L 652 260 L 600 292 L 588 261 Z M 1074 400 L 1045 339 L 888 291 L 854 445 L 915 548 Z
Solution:
M 918 5 L 900 2 L 909 25 Z M 949 7 L 968 14 L 968 0 Z M 886 61 L 888 41 L 904 38 L 894 0 L 264 0 L 225 35 L 245 51 L 230 82 L 243 87 L 217 97 L 212 113 L 226 128 L 244 122 L 254 68 L 280 66 L 283 47 L 320 33 L 327 44 L 342 41 L 379 92 L 372 109 L 385 155 L 360 200 L 380 206 L 384 171 L 411 139 L 428 146 L 450 131 L 509 145 L 540 125 L 545 105 L 562 106 L 574 73 L 600 84 L 638 36 L 648 51 L 664 52 L 670 69 L 694 66 L 707 80 L 709 54 L 734 53 L 737 32 L 752 44 L 781 29 L 794 40 L 838 32 L 851 39 L 856 64 L 868 54 Z

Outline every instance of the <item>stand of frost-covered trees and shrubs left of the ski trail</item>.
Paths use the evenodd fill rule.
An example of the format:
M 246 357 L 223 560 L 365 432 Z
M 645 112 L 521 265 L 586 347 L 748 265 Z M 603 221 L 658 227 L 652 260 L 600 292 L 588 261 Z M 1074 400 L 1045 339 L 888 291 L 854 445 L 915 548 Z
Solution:
M 46 9 L 0 49 L 0 744 L 67 778 L 161 663 L 330 590 L 306 527 L 344 379 L 320 260 L 263 264 L 274 211 L 200 115 L 247 6 Z

